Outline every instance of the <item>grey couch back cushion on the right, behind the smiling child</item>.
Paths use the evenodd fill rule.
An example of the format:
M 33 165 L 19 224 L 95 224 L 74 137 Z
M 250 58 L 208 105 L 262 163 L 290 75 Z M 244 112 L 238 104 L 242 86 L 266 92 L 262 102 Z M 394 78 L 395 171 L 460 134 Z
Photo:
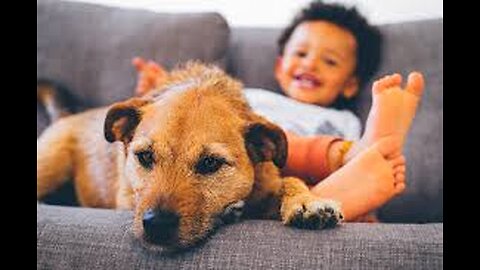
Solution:
M 398 72 L 404 77 L 419 70 L 426 90 L 407 140 L 406 193 L 380 210 L 392 222 L 443 220 L 443 20 L 381 25 L 385 36 L 384 59 L 374 76 Z M 273 67 L 280 29 L 234 28 L 227 69 L 247 87 L 279 91 Z M 405 78 L 406 79 L 406 78 Z M 365 123 L 371 83 L 358 98 L 356 113 Z

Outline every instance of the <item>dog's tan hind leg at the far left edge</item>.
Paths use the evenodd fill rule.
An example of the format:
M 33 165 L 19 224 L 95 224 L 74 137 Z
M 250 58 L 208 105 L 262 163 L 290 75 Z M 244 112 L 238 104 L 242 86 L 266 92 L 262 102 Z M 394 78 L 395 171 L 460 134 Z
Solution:
M 37 139 L 37 200 L 59 188 L 72 176 L 70 126 L 60 119 Z

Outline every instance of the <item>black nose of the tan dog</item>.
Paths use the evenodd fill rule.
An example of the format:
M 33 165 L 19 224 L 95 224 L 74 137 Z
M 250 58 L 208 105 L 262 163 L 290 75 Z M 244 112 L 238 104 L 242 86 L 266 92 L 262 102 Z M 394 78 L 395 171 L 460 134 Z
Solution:
M 148 209 L 143 214 L 143 229 L 147 239 L 159 244 L 176 235 L 179 222 L 180 217 L 168 210 Z

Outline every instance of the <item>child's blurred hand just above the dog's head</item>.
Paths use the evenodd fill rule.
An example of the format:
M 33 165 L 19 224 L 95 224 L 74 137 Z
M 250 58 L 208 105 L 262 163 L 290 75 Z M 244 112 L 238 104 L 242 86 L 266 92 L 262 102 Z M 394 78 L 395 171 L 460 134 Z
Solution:
M 136 96 L 142 96 L 154 89 L 167 75 L 162 66 L 151 60 L 146 62 L 141 57 L 135 57 L 132 59 L 132 64 L 138 71 L 137 87 L 135 88 Z

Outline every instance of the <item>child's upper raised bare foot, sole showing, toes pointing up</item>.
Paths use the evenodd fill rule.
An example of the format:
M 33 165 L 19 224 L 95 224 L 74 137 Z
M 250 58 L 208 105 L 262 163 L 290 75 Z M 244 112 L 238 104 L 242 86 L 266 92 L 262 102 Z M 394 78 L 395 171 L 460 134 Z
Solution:
M 424 89 L 423 75 L 418 72 L 410 73 L 405 89 L 400 87 L 401 83 L 402 77 L 394 74 L 385 76 L 373 84 L 373 102 L 365 133 L 347 153 L 344 162 L 351 160 L 379 139 L 391 135 L 400 138 L 400 145 L 395 153 L 401 154 Z

